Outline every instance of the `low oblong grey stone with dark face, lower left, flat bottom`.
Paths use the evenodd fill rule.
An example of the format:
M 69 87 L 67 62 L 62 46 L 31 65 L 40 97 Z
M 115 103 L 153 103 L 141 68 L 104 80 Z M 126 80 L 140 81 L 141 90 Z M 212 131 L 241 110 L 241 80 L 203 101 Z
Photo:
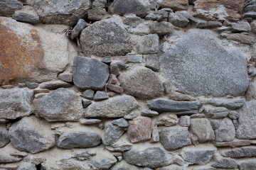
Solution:
M 64 149 L 87 148 L 100 145 L 102 139 L 97 132 L 82 130 L 60 135 L 57 146 Z

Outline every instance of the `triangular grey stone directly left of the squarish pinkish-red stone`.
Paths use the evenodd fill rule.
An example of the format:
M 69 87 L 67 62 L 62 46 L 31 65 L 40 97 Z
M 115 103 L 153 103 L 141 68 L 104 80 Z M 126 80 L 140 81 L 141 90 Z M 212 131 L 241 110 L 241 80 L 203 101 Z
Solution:
M 119 138 L 123 135 L 124 128 L 118 125 L 113 125 L 111 121 L 105 122 L 105 139 L 103 143 L 105 145 L 112 145 L 117 142 Z

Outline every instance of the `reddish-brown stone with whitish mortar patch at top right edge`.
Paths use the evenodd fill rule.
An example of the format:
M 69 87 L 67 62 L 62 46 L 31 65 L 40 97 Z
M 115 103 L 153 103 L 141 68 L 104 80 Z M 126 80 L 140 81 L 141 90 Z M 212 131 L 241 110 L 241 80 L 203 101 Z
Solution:
M 240 20 L 244 5 L 243 0 L 198 0 L 195 2 L 193 11 L 197 11 L 196 16 L 199 18 L 215 21 L 220 19 L 218 16 L 220 12 L 213 13 L 213 11 L 220 8 L 220 6 L 224 6 L 228 16 L 223 16 L 223 18 Z

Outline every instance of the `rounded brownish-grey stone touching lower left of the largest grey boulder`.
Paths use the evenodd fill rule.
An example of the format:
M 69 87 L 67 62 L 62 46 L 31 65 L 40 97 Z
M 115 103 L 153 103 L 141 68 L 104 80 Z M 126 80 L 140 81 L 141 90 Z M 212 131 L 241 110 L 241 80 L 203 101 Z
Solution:
M 158 75 L 146 67 L 138 67 L 119 75 L 126 94 L 138 98 L 156 98 L 164 94 L 164 85 Z

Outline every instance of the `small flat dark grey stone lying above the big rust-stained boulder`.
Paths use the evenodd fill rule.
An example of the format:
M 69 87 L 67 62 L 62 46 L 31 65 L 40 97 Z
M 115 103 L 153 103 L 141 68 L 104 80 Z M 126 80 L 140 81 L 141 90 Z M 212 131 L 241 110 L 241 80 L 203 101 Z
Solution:
M 39 16 L 31 15 L 28 13 L 14 13 L 14 15 L 12 15 L 11 18 L 23 23 L 33 23 L 33 24 L 39 23 Z

